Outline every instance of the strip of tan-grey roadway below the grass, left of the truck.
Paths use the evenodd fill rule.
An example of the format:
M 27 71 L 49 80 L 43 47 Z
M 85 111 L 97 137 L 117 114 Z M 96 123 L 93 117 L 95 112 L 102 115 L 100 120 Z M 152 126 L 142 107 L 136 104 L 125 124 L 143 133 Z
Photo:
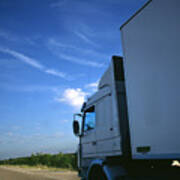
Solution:
M 27 166 L 0 166 L 0 174 L 4 179 L 33 179 L 33 180 L 79 180 L 76 171 L 56 169 L 56 168 L 38 168 Z M 17 179 L 17 178 L 16 178 Z M 0 178 L 1 180 L 1 178 Z

